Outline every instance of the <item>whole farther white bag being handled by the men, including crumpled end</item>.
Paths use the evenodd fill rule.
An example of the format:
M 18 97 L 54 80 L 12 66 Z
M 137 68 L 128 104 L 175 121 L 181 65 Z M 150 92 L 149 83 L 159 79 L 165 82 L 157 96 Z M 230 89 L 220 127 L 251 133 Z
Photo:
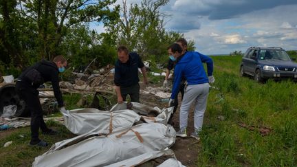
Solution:
M 115 104 L 110 111 L 91 108 L 74 109 L 63 113 L 65 126 L 76 135 L 89 132 L 108 134 L 113 129 L 131 127 L 140 120 L 167 124 L 173 113 L 173 107 L 161 110 L 158 107 L 148 107 L 137 102 L 132 104 L 132 110 L 126 109 L 126 103 Z M 152 113 L 157 116 L 146 116 Z

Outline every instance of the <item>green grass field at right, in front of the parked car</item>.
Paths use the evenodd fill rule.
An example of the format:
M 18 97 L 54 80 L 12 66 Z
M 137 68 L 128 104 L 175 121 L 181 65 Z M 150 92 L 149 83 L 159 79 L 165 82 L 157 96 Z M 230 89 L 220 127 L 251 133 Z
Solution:
M 210 90 L 197 165 L 296 166 L 296 83 L 268 80 L 259 84 L 239 77 L 240 56 L 212 58 L 214 87 L 219 90 Z M 239 122 L 272 131 L 263 136 Z

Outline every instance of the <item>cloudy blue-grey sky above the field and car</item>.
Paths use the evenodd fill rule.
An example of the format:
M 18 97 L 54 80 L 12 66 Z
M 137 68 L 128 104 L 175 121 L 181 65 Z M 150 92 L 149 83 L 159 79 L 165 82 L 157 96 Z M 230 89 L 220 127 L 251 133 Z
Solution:
M 161 10 L 170 14 L 166 30 L 184 33 L 202 54 L 250 46 L 297 50 L 297 0 L 170 0 Z

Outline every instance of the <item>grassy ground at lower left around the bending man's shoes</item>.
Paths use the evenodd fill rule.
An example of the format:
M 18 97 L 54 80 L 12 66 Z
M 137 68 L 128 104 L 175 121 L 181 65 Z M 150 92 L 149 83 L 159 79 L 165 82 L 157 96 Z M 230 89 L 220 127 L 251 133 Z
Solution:
M 74 137 L 74 135 L 68 131 L 65 126 L 58 124 L 57 122 L 49 120 L 47 121 L 47 126 L 61 132 L 54 136 L 42 135 L 40 133 L 41 139 L 49 142 L 50 146 L 52 146 L 51 144 L 60 142 L 61 140 Z M 23 127 L 8 131 L 12 132 L 5 132 L 9 135 L 0 138 L 0 166 L 32 166 L 32 162 L 34 162 L 35 157 L 42 155 L 50 149 L 50 146 L 47 146 L 46 148 L 39 148 L 28 145 L 30 142 L 30 127 Z M 3 145 L 10 141 L 12 141 L 12 144 L 3 148 Z

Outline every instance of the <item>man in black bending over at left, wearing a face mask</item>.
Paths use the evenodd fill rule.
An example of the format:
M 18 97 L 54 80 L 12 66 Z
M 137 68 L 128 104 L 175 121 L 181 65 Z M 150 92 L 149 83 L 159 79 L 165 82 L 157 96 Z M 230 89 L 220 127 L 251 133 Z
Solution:
M 56 56 L 52 62 L 41 60 L 29 67 L 19 76 L 16 84 L 17 94 L 25 101 L 31 112 L 31 146 L 47 146 L 47 142 L 39 139 L 39 128 L 45 135 L 55 135 L 57 132 L 48 129 L 43 120 L 43 110 L 39 102 L 39 88 L 44 82 L 51 81 L 54 96 L 58 101 L 61 112 L 67 112 L 64 107 L 62 93 L 59 87 L 59 72 L 63 72 L 67 60 L 63 56 Z

